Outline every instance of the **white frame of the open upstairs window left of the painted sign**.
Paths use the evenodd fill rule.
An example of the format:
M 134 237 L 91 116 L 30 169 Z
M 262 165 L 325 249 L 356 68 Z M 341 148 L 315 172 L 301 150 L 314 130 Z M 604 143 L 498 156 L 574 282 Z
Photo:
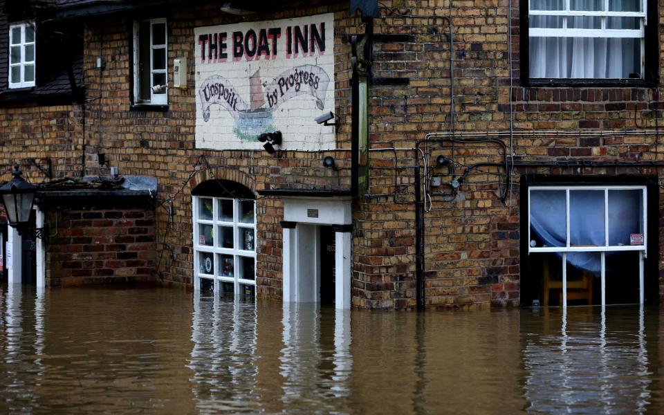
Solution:
M 151 80 L 153 79 L 154 74 L 156 73 L 164 73 L 165 74 L 165 79 L 166 79 L 166 92 L 165 93 L 154 93 L 152 89 L 150 88 L 150 99 L 145 100 L 140 98 L 140 88 L 141 88 L 141 80 L 140 80 L 140 55 L 139 55 L 139 50 L 140 50 L 140 24 L 143 22 L 149 21 L 150 22 L 150 56 L 149 56 L 149 71 L 150 71 L 150 83 Z M 156 24 L 164 24 L 165 26 L 165 44 L 159 44 L 155 45 L 152 39 L 152 26 Z M 153 50 L 155 49 L 165 49 L 165 59 L 166 62 L 164 64 L 163 69 L 155 69 L 154 68 L 154 53 L 152 53 Z M 150 85 L 153 86 L 153 85 Z M 168 104 L 168 25 L 166 22 L 166 19 L 147 19 L 147 20 L 137 20 L 133 22 L 133 103 L 136 105 L 166 105 Z

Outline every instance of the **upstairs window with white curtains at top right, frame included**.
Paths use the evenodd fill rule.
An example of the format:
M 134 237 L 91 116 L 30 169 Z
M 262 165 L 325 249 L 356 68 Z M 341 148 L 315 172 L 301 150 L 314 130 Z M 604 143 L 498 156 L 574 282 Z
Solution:
M 529 76 L 643 79 L 646 15 L 647 0 L 529 0 Z

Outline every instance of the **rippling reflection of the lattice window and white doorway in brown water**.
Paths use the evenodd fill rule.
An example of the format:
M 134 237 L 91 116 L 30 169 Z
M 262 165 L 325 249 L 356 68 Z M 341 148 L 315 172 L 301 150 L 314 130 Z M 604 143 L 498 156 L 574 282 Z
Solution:
M 342 410 L 353 367 L 350 330 L 349 311 L 195 297 L 188 367 L 196 407 Z

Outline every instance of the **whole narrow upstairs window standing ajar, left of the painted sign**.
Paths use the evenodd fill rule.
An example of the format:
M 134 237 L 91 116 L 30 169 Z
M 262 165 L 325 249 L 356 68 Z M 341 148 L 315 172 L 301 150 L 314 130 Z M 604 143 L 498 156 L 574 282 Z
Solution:
M 165 105 L 167 95 L 166 19 L 133 24 L 133 103 Z

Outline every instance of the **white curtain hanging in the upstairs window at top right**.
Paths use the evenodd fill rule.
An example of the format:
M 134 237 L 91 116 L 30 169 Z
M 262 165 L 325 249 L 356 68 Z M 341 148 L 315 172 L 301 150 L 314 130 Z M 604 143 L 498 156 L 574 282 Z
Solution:
M 570 0 L 571 10 L 599 11 L 604 0 Z M 562 10 L 562 0 L 533 0 L 533 9 Z M 612 0 L 611 11 L 638 11 L 638 0 Z M 562 17 L 531 16 L 531 28 L 562 28 Z M 601 28 L 600 17 L 568 17 L 567 28 Z M 637 29 L 638 18 L 607 18 L 607 28 Z M 640 73 L 640 39 L 607 37 L 531 37 L 533 78 L 628 78 Z

